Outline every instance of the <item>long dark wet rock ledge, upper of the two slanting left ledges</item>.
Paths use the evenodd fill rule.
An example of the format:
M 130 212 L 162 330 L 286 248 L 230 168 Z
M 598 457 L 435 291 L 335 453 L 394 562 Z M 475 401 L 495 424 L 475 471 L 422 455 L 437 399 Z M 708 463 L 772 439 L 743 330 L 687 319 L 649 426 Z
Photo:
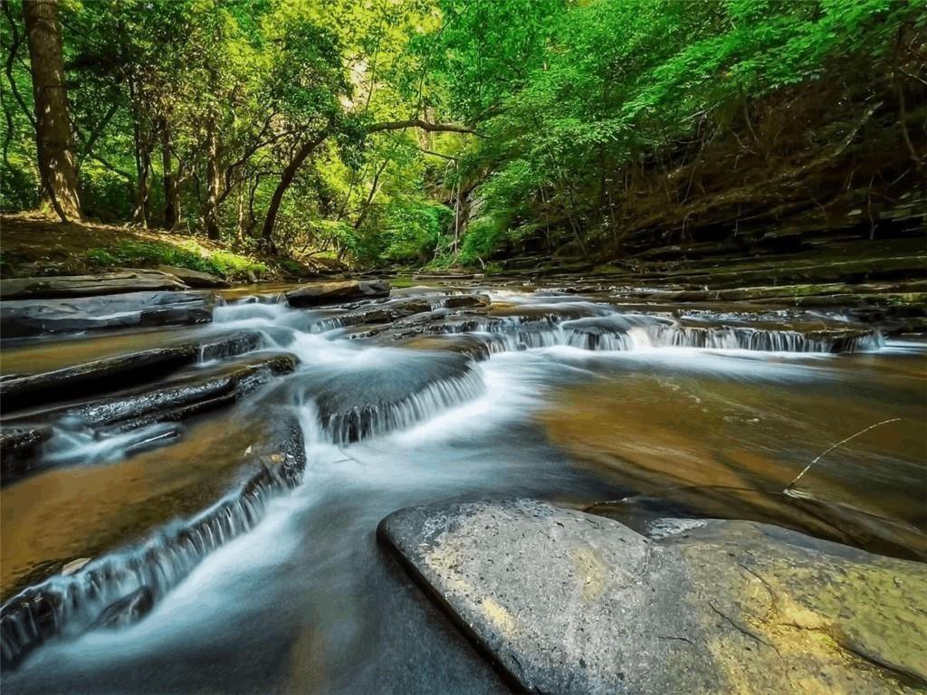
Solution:
M 132 352 L 94 360 L 73 367 L 20 376 L 0 382 L 0 407 L 4 411 L 32 405 L 86 397 L 111 390 L 162 379 L 197 360 L 214 360 L 238 355 L 260 345 L 260 334 L 241 331 L 218 335 L 199 342 Z

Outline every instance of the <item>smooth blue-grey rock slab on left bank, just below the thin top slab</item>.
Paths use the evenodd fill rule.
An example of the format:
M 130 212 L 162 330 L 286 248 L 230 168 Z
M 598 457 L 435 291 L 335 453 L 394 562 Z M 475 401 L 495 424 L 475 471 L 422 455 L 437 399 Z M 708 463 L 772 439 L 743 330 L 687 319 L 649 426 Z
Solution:
M 210 292 L 130 292 L 103 297 L 0 302 L 5 339 L 113 328 L 193 325 L 212 321 Z

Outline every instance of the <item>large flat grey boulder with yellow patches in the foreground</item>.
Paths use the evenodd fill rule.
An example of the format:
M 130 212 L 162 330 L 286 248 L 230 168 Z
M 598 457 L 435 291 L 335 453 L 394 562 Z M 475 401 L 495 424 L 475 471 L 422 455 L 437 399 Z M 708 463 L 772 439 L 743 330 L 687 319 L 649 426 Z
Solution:
M 927 689 L 927 572 L 751 522 L 655 541 L 534 500 L 414 507 L 377 535 L 539 693 Z

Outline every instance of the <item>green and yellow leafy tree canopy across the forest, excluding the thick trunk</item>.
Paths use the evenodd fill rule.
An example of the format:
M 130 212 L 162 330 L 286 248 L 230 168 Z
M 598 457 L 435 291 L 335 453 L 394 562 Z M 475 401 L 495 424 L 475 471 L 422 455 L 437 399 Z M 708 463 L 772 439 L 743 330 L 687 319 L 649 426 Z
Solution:
M 18 210 L 39 186 L 21 0 L 4 7 L 0 208 Z M 248 247 L 280 200 L 276 247 L 353 265 L 581 245 L 629 196 L 616 183 L 629 171 L 835 69 L 885 74 L 902 34 L 927 28 L 904 0 L 68 0 L 60 13 L 89 217 L 159 225 L 172 184 L 176 228 Z M 481 136 L 370 133 L 409 118 Z M 248 270 L 201 250 L 93 253 Z

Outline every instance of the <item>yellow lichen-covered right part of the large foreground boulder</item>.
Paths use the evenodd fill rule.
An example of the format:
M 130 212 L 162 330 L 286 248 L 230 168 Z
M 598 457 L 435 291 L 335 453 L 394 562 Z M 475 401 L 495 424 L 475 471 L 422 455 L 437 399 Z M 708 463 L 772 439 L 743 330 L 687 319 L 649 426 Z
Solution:
M 731 692 L 927 691 L 927 578 L 916 565 L 788 546 L 681 550 L 693 578 L 690 600 Z

